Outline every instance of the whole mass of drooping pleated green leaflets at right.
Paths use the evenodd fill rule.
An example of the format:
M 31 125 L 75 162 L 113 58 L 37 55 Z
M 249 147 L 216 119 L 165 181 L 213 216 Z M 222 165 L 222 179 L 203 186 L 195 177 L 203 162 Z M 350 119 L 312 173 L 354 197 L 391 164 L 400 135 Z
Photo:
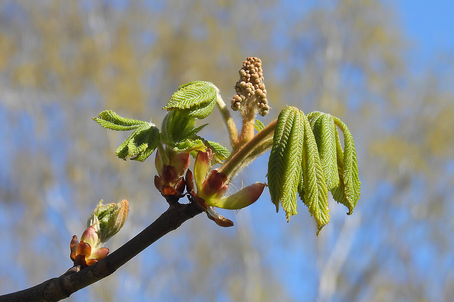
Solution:
M 311 120 L 311 121 L 309 121 Z M 339 126 L 344 133 L 342 149 Z M 309 115 L 295 107 L 281 111 L 268 162 L 271 201 L 296 215 L 296 195 L 317 221 L 317 235 L 330 221 L 328 191 L 345 205 L 350 215 L 360 196 L 360 181 L 353 138 L 336 117 L 314 111 Z

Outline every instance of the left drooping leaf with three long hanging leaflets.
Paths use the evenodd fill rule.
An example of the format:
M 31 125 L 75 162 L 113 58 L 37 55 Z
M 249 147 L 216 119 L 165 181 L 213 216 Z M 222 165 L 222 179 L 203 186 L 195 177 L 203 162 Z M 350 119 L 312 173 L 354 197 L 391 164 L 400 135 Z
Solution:
M 287 221 L 296 215 L 296 194 L 317 221 L 317 235 L 329 220 L 326 174 L 311 124 L 295 107 L 281 111 L 268 162 L 271 201 L 286 211 Z

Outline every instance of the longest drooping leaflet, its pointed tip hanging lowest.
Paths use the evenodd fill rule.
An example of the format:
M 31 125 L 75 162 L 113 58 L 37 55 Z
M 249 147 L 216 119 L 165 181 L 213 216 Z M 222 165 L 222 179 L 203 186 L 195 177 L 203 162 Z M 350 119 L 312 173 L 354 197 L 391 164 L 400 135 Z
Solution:
M 314 133 L 309 120 L 304 119 L 304 143 L 301 159 L 303 186 L 298 186 L 301 200 L 317 221 L 317 236 L 321 228 L 330 221 L 328 209 L 328 188 L 323 172 Z

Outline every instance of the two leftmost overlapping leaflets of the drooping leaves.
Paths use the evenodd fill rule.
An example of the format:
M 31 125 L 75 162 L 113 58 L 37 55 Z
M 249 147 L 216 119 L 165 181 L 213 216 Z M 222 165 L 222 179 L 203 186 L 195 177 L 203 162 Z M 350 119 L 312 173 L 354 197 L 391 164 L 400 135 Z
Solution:
M 268 186 L 271 201 L 279 211 L 279 203 L 287 221 L 296 215 L 296 194 L 301 180 L 301 141 L 304 136 L 305 116 L 295 107 L 284 108 L 277 118 L 270 159 Z

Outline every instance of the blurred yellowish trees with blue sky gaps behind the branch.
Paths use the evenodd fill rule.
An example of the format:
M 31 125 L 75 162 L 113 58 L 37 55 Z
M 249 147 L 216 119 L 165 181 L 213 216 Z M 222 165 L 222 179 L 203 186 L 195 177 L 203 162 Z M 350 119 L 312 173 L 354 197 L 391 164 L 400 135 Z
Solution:
M 118 160 L 124 134 L 92 117 L 110 109 L 159 125 L 158 109 L 193 80 L 228 100 L 241 62 L 257 56 L 265 123 L 296 105 L 349 125 L 363 181 L 355 215 L 330 197 L 317 238 L 306 211 L 287 224 L 263 194 L 228 213 L 235 227 L 196 217 L 68 301 L 450 301 L 453 58 L 415 74 L 378 0 L 295 2 L 2 1 L 0 294 L 72 266 L 71 237 L 99 200 L 130 202 L 111 250 L 166 210 L 154 165 Z M 225 134 L 203 136 L 228 145 Z M 259 159 L 236 186 L 265 175 Z

